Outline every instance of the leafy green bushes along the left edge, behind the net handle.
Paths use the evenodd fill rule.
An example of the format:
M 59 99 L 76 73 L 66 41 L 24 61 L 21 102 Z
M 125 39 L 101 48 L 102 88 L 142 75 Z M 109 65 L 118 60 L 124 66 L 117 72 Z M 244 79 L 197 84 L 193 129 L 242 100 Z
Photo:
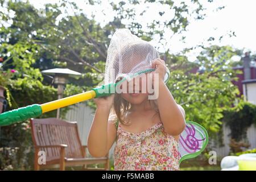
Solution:
M 10 2 L 10 8 L 14 5 L 12 3 Z M 20 2 L 17 2 L 17 5 L 20 5 Z M 30 13 L 24 13 L 26 6 L 15 6 L 15 8 L 17 7 L 22 7 L 20 9 L 22 15 L 16 16 L 13 21 L 15 22 L 15 19 L 19 18 L 27 20 L 31 12 L 27 10 Z M 3 19 L 7 21 L 8 14 L 3 14 L 2 10 L 1 7 L 0 19 L 1 21 Z M 31 28 L 28 24 L 30 23 L 26 22 L 24 24 L 24 28 L 27 26 L 27 30 Z M 43 77 L 39 69 L 32 67 L 35 61 L 39 59 L 39 46 L 31 44 L 27 40 L 28 35 L 19 34 L 20 28 L 22 28 L 18 28 L 19 26 L 22 26 L 22 24 L 13 24 L 11 27 L 0 26 L 0 57 L 3 59 L 1 69 L 6 73 L 11 73 L 15 70 L 15 74 L 9 77 L 6 82 L 6 88 L 10 90 L 10 92 L 7 92 L 7 96 L 10 94 L 11 98 L 9 107 L 7 108 L 8 110 L 35 103 L 42 104 L 43 102 L 52 101 L 57 98 L 56 89 L 52 88 L 52 86 L 43 85 Z M 55 115 L 54 113 L 55 111 L 47 113 L 42 117 L 53 117 Z M 1 169 L 5 169 L 5 165 L 11 165 L 13 169 L 32 168 L 33 151 L 28 122 L 1 127 L 0 147 L 19 148 L 15 154 L 7 151 L 1 153 L 5 155 L 4 159 L 0 159 Z

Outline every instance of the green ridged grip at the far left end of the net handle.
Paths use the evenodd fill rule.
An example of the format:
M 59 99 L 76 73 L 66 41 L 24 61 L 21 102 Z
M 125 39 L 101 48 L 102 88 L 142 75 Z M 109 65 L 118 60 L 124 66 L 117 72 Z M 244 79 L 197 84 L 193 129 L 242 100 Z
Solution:
M 20 107 L 0 114 L 0 126 L 11 125 L 16 122 L 22 122 L 30 118 L 39 117 L 42 114 L 41 106 L 33 104 L 27 107 Z

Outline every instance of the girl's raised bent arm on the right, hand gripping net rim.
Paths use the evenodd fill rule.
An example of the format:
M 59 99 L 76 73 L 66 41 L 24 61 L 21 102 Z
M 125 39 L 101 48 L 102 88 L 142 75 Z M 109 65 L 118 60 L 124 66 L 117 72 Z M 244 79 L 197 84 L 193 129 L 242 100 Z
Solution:
M 185 129 L 185 111 L 176 103 L 171 92 L 164 83 L 165 63 L 163 60 L 156 60 L 153 66 L 157 65 L 155 73 L 159 74 L 158 108 L 161 121 L 166 133 L 176 136 Z

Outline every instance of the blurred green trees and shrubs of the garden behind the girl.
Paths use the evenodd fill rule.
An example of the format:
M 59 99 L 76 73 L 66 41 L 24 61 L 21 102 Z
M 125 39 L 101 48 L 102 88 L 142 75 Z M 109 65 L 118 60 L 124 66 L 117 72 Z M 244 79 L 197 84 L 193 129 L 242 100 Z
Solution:
M 158 17 L 145 24 L 138 19 L 139 3 L 141 1 L 111 2 L 113 18 L 102 25 L 95 18 L 97 14 L 87 14 L 76 2 L 61 0 L 36 7 L 30 1 L 0 0 L 0 113 L 57 100 L 59 92 L 53 76 L 42 73 L 48 69 L 68 68 L 81 73 L 80 77 L 68 78 L 63 97 L 92 90 L 104 79 L 102 73 L 112 35 L 119 28 L 128 28 L 142 40 L 154 42 L 156 39 L 159 55 L 170 70 L 168 89 L 184 108 L 186 121 L 195 121 L 208 132 L 208 146 L 197 158 L 182 162 L 181 170 L 221 170 L 224 156 L 217 154 L 216 163 L 209 162 L 210 151 L 227 145 L 224 127 L 229 128 L 228 155 L 256 153 L 255 143 L 250 143 L 247 135 L 247 130 L 256 126 L 256 105 L 244 99 L 236 85 L 243 72 L 234 69 L 243 66 L 245 50 L 220 46 L 213 40 L 221 37 L 211 37 L 207 40 L 208 46 L 198 44 L 179 53 L 172 52 L 165 32 L 171 37 L 184 34 L 189 26 L 188 17 L 200 21 L 207 16 L 203 4 L 200 1 L 145 1 L 149 7 L 155 3 L 164 10 L 157 11 Z M 189 8 L 191 3 L 193 9 Z M 95 9 L 102 6 L 99 1 L 85 4 Z M 149 9 L 143 8 L 141 16 Z M 214 8 L 221 11 L 224 7 Z M 166 18 L 169 10 L 173 13 L 171 19 Z M 235 35 L 229 32 L 221 36 Z M 180 41 L 183 39 L 185 37 Z M 196 48 L 200 51 L 191 61 L 187 53 Z M 238 61 L 234 57 L 239 57 Z M 254 60 L 256 54 L 251 52 L 250 57 Z M 92 100 L 85 103 L 90 109 L 96 109 Z M 70 109 L 63 107 L 60 118 L 67 119 Z M 56 114 L 57 110 L 52 110 L 38 118 L 55 118 Z M 29 119 L 0 126 L 0 170 L 34 170 L 31 129 Z M 111 170 L 114 169 L 112 157 Z M 88 164 L 88 167 L 104 166 Z

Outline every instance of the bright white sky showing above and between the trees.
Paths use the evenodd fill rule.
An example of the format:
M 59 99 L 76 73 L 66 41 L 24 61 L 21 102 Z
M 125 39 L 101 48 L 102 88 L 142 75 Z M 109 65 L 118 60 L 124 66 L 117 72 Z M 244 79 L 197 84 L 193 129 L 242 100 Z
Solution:
M 191 2 L 190 0 L 187 0 Z M 43 7 L 45 3 L 58 2 L 57 0 L 30 0 L 35 7 Z M 109 8 L 109 2 L 103 1 L 104 5 L 94 6 L 85 5 L 84 1 L 75 1 L 81 9 L 90 17 L 91 13 L 96 12 L 95 19 L 103 26 L 113 18 L 113 11 Z M 176 2 L 176 1 L 175 1 Z M 189 19 L 189 26 L 187 32 L 181 35 L 173 36 L 170 39 L 170 32 L 166 31 L 167 47 L 173 53 L 179 53 L 184 48 L 195 47 L 201 45 L 209 46 L 207 40 L 210 36 L 215 40 L 212 44 L 220 46 L 230 45 L 236 48 L 245 49 L 245 51 L 256 52 L 256 1 L 254 0 L 214 0 L 212 3 L 203 0 L 203 5 L 208 9 L 205 11 L 207 17 L 204 20 Z M 225 9 L 216 11 L 218 6 L 225 6 Z M 140 7 L 138 6 L 138 11 Z M 155 18 L 158 15 L 157 7 L 150 7 L 149 13 L 146 14 L 146 19 Z M 167 16 L 168 17 L 168 16 Z M 146 24 L 147 20 L 138 16 L 138 22 Z M 228 36 L 229 32 L 235 32 L 236 36 Z M 221 42 L 218 40 L 220 36 L 224 35 Z M 180 41 L 181 36 L 186 36 L 185 43 Z M 156 38 L 152 43 L 158 43 Z M 165 50 L 165 48 L 160 48 Z M 196 55 L 200 49 L 195 49 L 188 53 L 189 60 L 196 59 Z

